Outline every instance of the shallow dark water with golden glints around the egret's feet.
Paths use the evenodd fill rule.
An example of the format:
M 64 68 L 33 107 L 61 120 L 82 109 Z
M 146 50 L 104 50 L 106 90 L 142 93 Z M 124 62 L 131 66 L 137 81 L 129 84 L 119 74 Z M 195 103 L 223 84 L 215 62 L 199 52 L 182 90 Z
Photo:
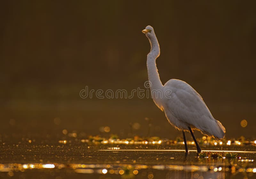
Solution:
M 0 144 L 1 178 L 255 178 L 254 145 L 202 146 L 236 158 L 200 158 L 195 145 L 89 144 L 70 140 L 6 140 Z M 106 173 L 106 174 L 104 174 Z

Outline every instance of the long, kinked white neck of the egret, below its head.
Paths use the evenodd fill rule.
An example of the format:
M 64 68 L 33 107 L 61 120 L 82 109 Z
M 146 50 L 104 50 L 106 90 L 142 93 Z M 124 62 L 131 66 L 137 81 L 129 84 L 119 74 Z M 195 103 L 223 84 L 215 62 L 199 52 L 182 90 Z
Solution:
M 160 80 L 159 73 L 156 67 L 156 58 L 160 55 L 160 47 L 156 35 L 154 34 L 154 36 L 148 36 L 148 39 L 151 45 L 151 50 L 147 58 L 147 67 L 148 80 L 151 82 L 150 90 L 152 94 L 152 90 L 162 90 L 163 84 Z

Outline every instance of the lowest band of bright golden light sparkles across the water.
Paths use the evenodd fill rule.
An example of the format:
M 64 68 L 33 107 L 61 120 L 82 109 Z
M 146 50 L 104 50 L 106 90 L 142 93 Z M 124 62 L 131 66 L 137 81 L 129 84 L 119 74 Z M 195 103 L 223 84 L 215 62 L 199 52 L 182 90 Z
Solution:
M 239 161 L 253 161 L 248 159 L 241 159 Z M 60 163 L 54 163 L 54 164 L 41 164 L 41 163 L 33 163 L 33 164 L 0 164 L 0 172 L 17 172 L 17 171 L 23 171 L 24 169 L 61 169 L 61 168 L 68 168 L 73 169 L 76 173 L 83 173 L 83 174 L 126 174 L 126 171 L 129 174 L 137 175 L 139 173 L 139 170 L 141 169 L 156 169 L 156 170 L 176 170 L 176 171 L 187 171 L 187 172 L 194 172 L 194 171 L 201 171 L 201 172 L 207 172 L 209 170 L 212 170 L 214 172 L 221 172 L 221 171 L 229 171 L 229 167 L 216 167 L 216 166 L 195 166 L 195 165 L 140 165 L 140 164 L 69 164 L 64 165 Z M 107 169 L 108 168 L 108 169 Z M 237 164 L 234 164 L 230 168 L 231 173 L 236 172 L 253 172 L 256 173 L 256 168 L 246 168 L 246 165 L 238 167 Z M 127 174 L 128 174 L 127 173 Z M 143 172 L 142 172 L 143 173 Z M 148 178 L 153 178 L 154 175 L 152 172 L 149 172 L 147 174 Z M 199 175 L 195 175 L 199 177 Z

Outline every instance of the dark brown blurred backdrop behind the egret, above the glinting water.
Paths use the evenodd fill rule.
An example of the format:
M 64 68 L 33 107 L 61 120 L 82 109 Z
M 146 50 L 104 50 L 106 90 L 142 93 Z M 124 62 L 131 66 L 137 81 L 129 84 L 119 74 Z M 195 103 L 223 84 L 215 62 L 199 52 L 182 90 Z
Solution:
M 150 45 L 141 30 L 151 25 L 161 48 L 157 67 L 162 82 L 176 78 L 194 87 L 226 127 L 227 138 L 255 138 L 255 5 L 2 2 L 0 133 L 46 135 L 66 129 L 85 136 L 181 136 L 152 99 L 79 95 L 85 86 L 129 92 L 144 88 Z

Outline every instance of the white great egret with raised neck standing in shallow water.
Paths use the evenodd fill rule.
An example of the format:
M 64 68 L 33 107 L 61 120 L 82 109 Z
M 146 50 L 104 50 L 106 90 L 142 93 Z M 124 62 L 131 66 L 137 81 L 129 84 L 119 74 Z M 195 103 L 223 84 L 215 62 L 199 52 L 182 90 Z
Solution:
M 188 145 L 185 131 L 190 131 L 196 143 L 197 153 L 200 153 L 201 148 L 193 134 L 193 129 L 220 139 L 225 137 L 226 130 L 213 118 L 203 98 L 188 83 L 179 79 L 170 79 L 163 86 L 156 68 L 156 58 L 160 55 L 156 34 L 151 26 L 147 26 L 142 32 L 146 34 L 151 45 L 147 56 L 147 68 L 152 98 L 156 106 L 164 111 L 169 123 L 182 131 L 186 153 L 188 153 Z

